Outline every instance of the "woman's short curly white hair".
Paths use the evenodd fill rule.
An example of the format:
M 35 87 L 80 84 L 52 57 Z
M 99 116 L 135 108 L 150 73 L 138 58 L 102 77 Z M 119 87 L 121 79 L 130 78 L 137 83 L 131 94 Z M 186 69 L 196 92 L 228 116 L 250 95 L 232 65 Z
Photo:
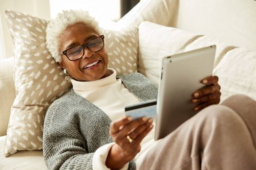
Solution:
M 60 35 L 67 27 L 76 23 L 84 23 L 92 27 L 96 32 L 102 34 L 98 21 L 83 10 L 63 10 L 55 19 L 50 20 L 46 28 L 46 47 L 56 62 L 61 61 L 59 54 Z

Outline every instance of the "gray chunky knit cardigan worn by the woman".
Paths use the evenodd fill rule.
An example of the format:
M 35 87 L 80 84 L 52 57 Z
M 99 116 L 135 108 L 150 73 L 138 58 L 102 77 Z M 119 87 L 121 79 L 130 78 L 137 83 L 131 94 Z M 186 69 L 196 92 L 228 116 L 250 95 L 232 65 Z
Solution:
M 157 86 L 139 73 L 117 76 L 140 100 L 157 99 Z M 102 96 L 108 99 L 108 96 Z M 113 142 L 111 119 L 71 88 L 47 110 L 43 151 L 49 169 L 92 169 L 94 152 Z M 136 169 L 130 161 L 129 169 Z

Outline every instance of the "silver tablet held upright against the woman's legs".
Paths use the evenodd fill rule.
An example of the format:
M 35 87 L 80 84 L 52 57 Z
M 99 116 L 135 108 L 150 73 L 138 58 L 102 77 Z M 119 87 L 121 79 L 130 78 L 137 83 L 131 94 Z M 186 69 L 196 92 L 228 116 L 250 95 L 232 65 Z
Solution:
M 195 115 L 190 103 L 200 81 L 212 75 L 216 45 L 200 48 L 162 60 L 158 89 L 155 140 L 161 139 Z

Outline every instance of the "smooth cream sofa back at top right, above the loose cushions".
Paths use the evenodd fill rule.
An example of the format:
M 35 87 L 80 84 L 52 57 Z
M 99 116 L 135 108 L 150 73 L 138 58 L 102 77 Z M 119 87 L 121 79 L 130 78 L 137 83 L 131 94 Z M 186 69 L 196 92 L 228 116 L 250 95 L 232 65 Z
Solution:
M 212 36 L 235 46 L 256 49 L 255 1 L 178 2 L 169 26 Z

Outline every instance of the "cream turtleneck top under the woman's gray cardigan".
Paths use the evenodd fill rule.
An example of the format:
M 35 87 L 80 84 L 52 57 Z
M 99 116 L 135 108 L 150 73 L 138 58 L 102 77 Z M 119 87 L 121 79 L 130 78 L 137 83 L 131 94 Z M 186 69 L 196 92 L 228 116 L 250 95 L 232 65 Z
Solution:
M 113 74 L 99 80 L 79 82 L 71 80 L 74 91 L 104 111 L 112 121 L 125 116 L 124 107 L 141 101 L 131 93 L 121 79 L 116 79 L 116 70 L 109 68 Z

